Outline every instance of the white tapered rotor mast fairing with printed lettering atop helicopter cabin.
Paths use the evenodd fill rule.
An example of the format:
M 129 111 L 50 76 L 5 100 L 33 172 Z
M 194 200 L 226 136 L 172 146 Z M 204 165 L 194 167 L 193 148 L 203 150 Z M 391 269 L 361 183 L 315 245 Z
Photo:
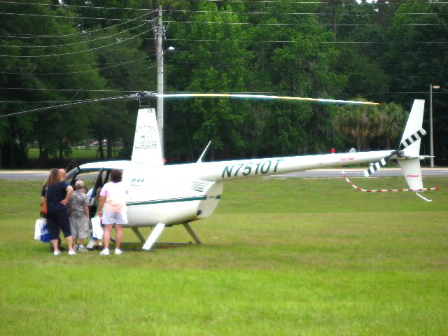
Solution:
M 139 109 L 132 161 L 152 166 L 163 165 L 155 109 Z

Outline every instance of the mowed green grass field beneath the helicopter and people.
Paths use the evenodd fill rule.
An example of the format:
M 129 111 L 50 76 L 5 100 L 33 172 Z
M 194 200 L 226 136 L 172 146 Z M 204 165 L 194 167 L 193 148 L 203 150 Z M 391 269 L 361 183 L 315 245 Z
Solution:
M 41 182 L 0 180 L 1 334 L 448 335 L 448 181 L 423 183 L 442 187 L 433 202 L 342 179 L 232 181 L 192 223 L 202 245 L 54 257 L 32 239 Z

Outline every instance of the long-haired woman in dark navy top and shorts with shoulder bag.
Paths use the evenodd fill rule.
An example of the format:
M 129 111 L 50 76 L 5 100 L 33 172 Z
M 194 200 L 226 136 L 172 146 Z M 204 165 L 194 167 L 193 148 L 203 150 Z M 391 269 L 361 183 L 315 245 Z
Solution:
M 41 198 L 45 200 L 45 192 L 47 193 L 48 215 L 47 226 L 50 232 L 50 241 L 53 246 L 54 255 L 59 254 L 57 247 L 57 239 L 59 238 L 59 229 L 64 232 L 64 237 L 69 246 L 69 255 L 75 255 L 73 251 L 73 239 L 71 238 L 69 214 L 67 213 L 67 203 L 73 194 L 73 188 L 62 181 L 62 176 L 59 174 L 59 169 L 53 168 L 50 170 L 48 179 L 42 187 Z

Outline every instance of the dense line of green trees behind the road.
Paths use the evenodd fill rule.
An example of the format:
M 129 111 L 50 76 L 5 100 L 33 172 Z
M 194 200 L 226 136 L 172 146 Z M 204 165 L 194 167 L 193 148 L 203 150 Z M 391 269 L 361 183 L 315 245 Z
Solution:
M 2 3 L 0 167 L 60 160 L 87 139 L 100 159 L 130 158 L 138 103 L 156 89 L 162 7 L 165 92 L 254 92 L 381 102 L 337 106 L 244 99 L 165 99 L 168 162 L 394 148 L 414 99 L 433 90 L 434 153 L 447 165 L 445 1 L 47 0 Z M 117 99 L 78 104 L 90 99 Z M 155 107 L 155 101 L 151 102 Z M 422 151 L 429 154 L 429 137 Z M 107 140 L 106 148 L 102 140 Z

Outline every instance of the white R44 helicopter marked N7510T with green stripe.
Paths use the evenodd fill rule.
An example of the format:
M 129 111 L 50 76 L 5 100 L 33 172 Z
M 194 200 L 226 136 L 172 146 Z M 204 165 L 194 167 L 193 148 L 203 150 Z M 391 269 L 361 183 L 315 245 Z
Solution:
M 203 94 L 202 97 L 204 95 L 209 97 L 211 94 Z M 213 95 L 216 97 L 217 94 Z M 223 96 L 229 97 L 230 95 L 218 94 L 218 97 Z M 245 97 L 248 95 L 232 96 Z M 282 98 L 286 99 L 286 97 Z M 427 158 L 419 154 L 420 138 L 426 134 L 421 128 L 423 107 L 424 100 L 414 101 L 400 147 L 394 150 L 203 162 L 202 158 L 209 148 L 209 143 L 197 162 L 183 165 L 163 164 L 155 110 L 139 109 L 132 160 L 92 162 L 80 165 L 67 174 L 67 181 L 74 183 L 80 174 L 98 172 L 90 200 L 91 205 L 94 205 L 97 188 L 106 183 L 111 170 L 123 169 L 123 181 L 130 187 L 126 203 L 129 223 L 124 226 L 132 228 L 144 243 L 145 250 L 153 247 L 164 228 L 179 224 L 186 228 L 197 244 L 201 244 L 189 223 L 213 214 L 221 200 L 223 182 L 228 180 L 251 179 L 309 169 L 376 162 L 365 172 L 367 177 L 386 165 L 388 160 L 397 159 L 409 185 L 409 191 L 414 191 L 419 195 L 417 192 L 423 191 L 420 160 Z M 429 201 L 422 195 L 419 197 Z M 153 228 L 148 239 L 141 235 L 138 230 L 140 227 Z

